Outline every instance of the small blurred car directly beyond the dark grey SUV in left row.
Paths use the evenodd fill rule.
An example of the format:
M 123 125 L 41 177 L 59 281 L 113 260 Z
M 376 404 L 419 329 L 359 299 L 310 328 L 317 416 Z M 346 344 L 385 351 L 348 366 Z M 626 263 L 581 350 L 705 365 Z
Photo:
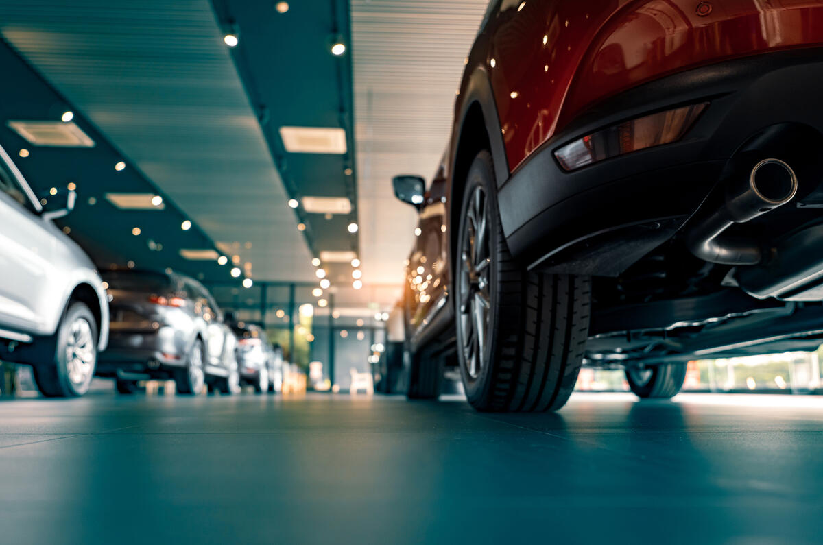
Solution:
M 250 384 L 258 394 L 279 392 L 283 384 L 283 352 L 269 343 L 266 332 L 256 324 L 231 324 L 237 336 L 240 384 Z

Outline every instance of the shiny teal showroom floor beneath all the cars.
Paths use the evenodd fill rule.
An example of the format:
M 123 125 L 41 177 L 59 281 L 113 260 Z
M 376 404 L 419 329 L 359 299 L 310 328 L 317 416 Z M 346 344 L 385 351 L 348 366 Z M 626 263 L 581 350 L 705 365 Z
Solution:
M 823 398 L 0 402 L 0 543 L 821 543 Z

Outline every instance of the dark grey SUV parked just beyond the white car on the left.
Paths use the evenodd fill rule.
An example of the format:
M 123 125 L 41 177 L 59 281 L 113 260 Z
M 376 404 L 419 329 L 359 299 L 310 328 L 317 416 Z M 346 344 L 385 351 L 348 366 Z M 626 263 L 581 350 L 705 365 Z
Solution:
M 178 272 L 104 272 L 109 293 L 109 347 L 97 374 L 133 393 L 138 380 L 174 380 L 180 394 L 239 390 L 237 338 L 214 298 Z

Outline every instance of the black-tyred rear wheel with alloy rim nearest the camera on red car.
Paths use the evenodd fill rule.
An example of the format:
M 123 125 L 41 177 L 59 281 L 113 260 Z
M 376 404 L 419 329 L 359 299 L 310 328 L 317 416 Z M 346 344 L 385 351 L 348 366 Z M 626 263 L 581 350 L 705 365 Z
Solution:
M 468 171 L 454 254 L 463 385 L 480 411 L 553 411 L 569 399 L 583 361 L 590 280 L 515 262 L 496 190 L 491 154 L 481 151 Z

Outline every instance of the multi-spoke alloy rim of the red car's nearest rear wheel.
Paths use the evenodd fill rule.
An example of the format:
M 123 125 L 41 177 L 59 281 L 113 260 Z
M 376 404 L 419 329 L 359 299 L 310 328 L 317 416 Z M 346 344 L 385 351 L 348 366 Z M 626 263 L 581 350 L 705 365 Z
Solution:
M 463 361 L 472 379 L 484 365 L 489 340 L 491 296 L 490 221 L 486 193 L 474 189 L 469 198 L 466 221 L 461 233 L 458 275 L 458 327 L 462 333 Z

